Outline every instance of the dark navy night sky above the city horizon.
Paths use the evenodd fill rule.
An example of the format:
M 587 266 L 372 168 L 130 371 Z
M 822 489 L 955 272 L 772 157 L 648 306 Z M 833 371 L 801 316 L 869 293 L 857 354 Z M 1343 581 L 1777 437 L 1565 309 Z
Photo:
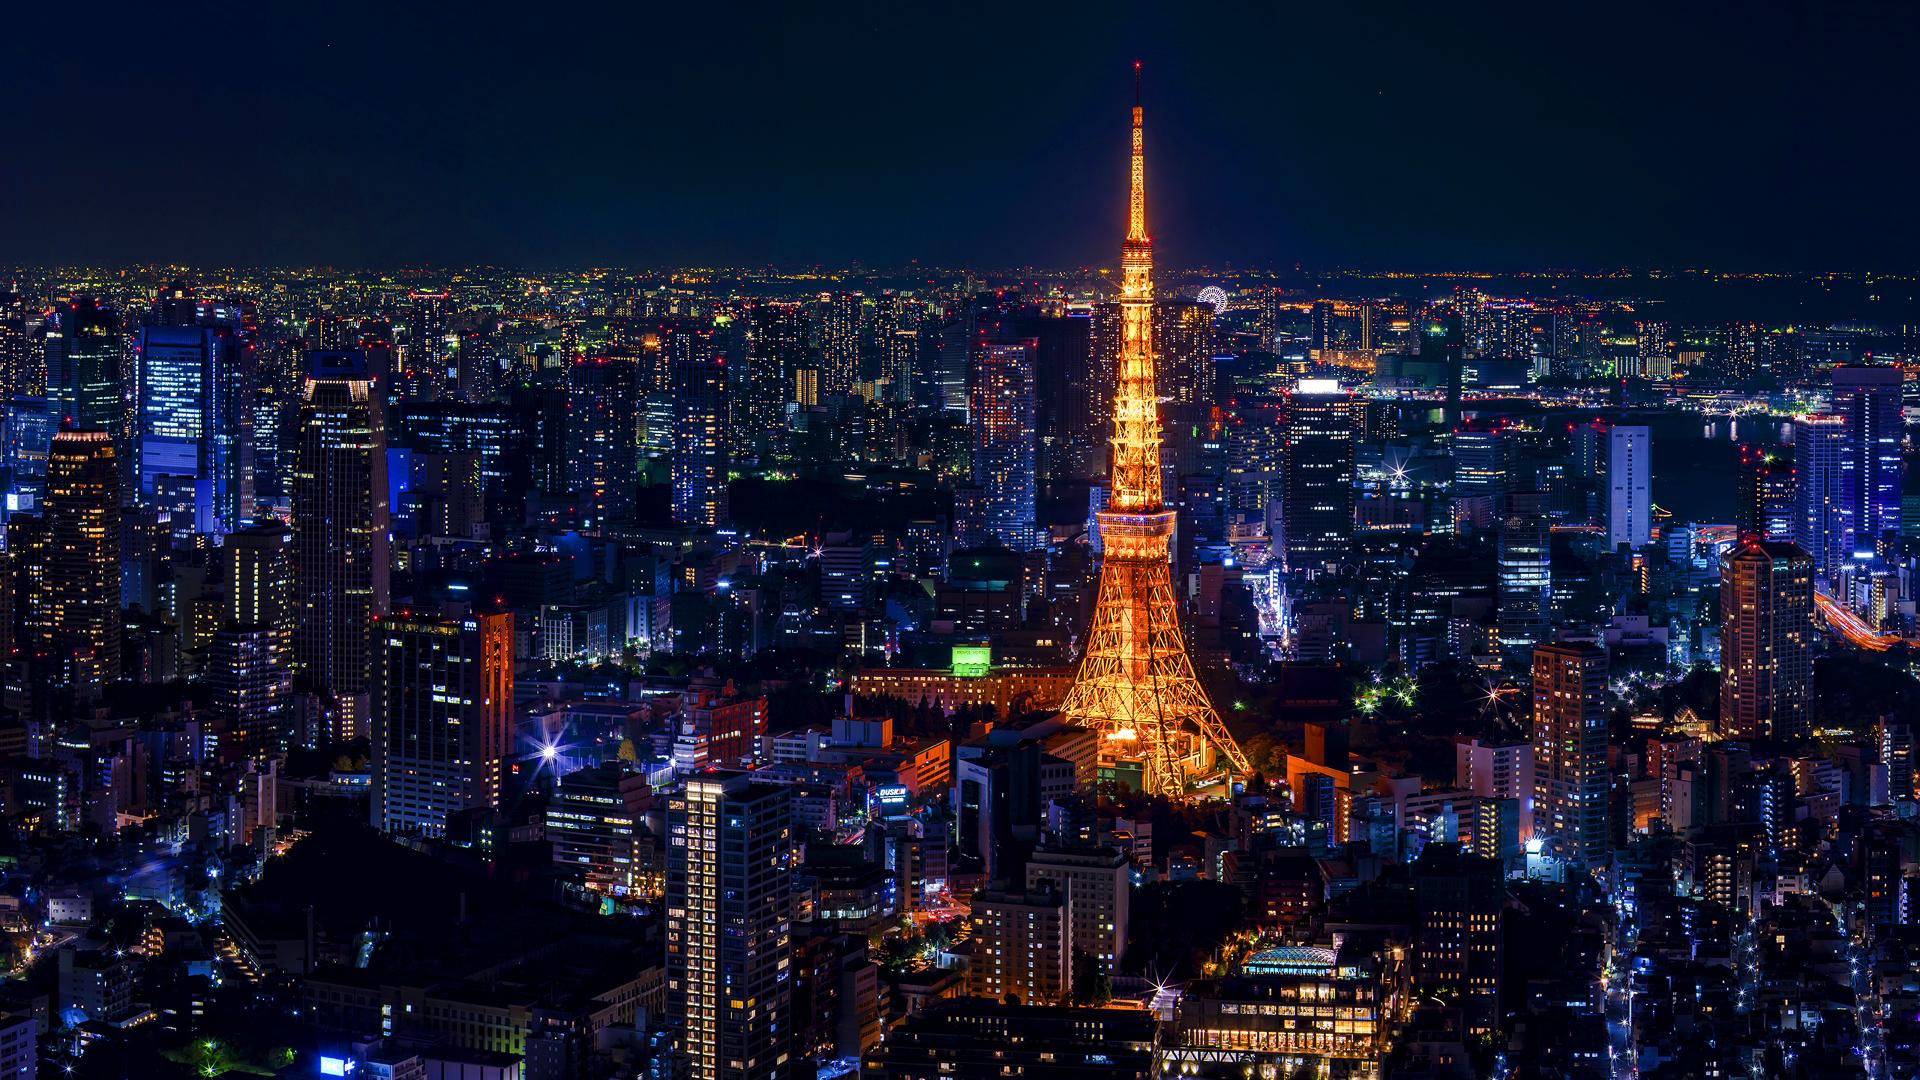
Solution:
M 1891 2 L 31 8 L 0 263 L 1920 269 Z

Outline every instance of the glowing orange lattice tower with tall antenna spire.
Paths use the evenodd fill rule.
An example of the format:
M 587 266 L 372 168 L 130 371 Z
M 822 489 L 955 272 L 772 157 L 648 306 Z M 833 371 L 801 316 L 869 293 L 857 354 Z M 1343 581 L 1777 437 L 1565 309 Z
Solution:
M 1154 388 L 1154 242 L 1146 236 L 1146 150 L 1133 65 L 1133 198 L 1119 248 L 1119 371 L 1114 390 L 1114 484 L 1100 521 L 1100 596 L 1062 711 L 1100 734 L 1102 761 L 1139 761 L 1148 792 L 1185 798 L 1246 755 L 1219 723 L 1187 659 L 1173 601 L 1173 511 L 1160 490 L 1160 394 Z

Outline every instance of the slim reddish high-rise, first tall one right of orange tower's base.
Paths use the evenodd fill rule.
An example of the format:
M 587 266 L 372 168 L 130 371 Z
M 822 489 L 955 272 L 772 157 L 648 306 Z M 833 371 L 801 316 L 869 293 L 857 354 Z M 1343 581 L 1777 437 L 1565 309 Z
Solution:
M 1569 867 L 1607 867 L 1607 650 L 1534 650 L 1534 836 Z

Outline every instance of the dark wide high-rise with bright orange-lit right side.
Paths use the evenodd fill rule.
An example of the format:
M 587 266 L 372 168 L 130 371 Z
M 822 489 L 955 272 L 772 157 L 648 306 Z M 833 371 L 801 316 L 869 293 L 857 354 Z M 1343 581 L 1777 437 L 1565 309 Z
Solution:
M 513 615 L 382 615 L 372 711 L 372 824 L 445 836 L 495 807 L 513 738 Z

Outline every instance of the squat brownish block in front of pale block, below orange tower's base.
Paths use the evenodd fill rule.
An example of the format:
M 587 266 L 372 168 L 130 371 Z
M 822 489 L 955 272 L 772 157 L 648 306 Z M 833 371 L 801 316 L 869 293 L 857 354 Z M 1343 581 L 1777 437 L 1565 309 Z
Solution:
M 1073 990 L 1073 915 L 1054 884 L 973 894 L 966 992 L 993 1001 L 1064 1005 Z

